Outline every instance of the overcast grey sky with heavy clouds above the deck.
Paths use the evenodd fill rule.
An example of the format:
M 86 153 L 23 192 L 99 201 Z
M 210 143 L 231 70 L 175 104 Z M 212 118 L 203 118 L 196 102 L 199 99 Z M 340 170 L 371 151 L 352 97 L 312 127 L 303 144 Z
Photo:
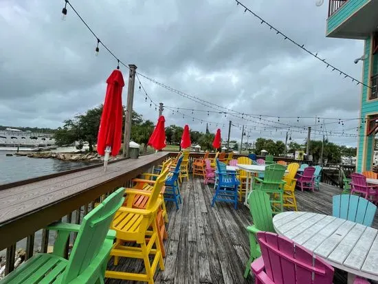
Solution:
M 298 43 L 361 78 L 362 63 L 353 60 L 363 54 L 364 43 L 325 37 L 328 3 L 317 7 L 315 0 L 242 2 Z M 356 144 L 357 138 L 329 132 L 356 134 L 357 120 L 345 121 L 344 126 L 338 120 L 324 120 L 326 125 L 320 128 L 315 118 L 297 122 L 296 116 L 357 118 L 360 86 L 260 25 L 234 0 L 71 3 L 100 40 L 124 63 L 137 65 L 141 74 L 190 96 L 256 115 L 243 120 L 230 113 L 208 114 L 221 109 L 193 102 L 140 76 L 153 102 L 166 105 L 167 124 L 188 123 L 191 129 L 204 131 L 208 122 L 210 131 L 220 127 L 225 137 L 232 120 L 236 126 L 231 137 L 239 138 L 239 126 L 245 124 L 249 141 L 285 139 L 291 125 L 291 137 L 298 142 L 311 125 L 326 130 L 333 142 Z M 62 21 L 63 6 L 63 0 L 0 1 L 0 124 L 59 127 L 63 120 L 103 102 L 105 80 L 117 63 L 101 46 L 95 56 L 96 39 L 71 8 Z M 128 70 L 121 70 L 127 80 Z M 150 107 L 150 100 L 145 102 L 139 83 L 135 86 L 135 111 L 157 120 L 155 107 Z M 189 110 L 177 113 L 172 107 Z M 264 115 L 280 116 L 280 121 Z M 318 132 L 315 138 L 320 136 Z

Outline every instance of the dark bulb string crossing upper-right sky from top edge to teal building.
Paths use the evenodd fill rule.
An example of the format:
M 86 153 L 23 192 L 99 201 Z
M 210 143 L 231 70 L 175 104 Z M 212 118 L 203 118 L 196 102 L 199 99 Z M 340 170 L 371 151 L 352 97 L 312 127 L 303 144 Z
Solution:
M 252 15 L 254 15 L 254 17 L 256 17 L 257 19 L 259 19 L 261 21 L 261 25 L 263 25 L 263 24 L 267 25 L 270 30 L 273 30 L 274 32 L 276 32 L 277 35 L 282 36 L 282 38 L 284 40 L 290 41 L 291 43 L 293 43 L 294 45 L 296 45 L 297 47 L 299 47 L 301 50 L 304 50 L 304 52 L 307 52 L 308 54 L 312 55 L 313 57 L 315 57 L 316 59 L 318 59 L 319 61 L 321 61 L 322 63 L 324 63 L 326 65 L 326 68 L 331 67 L 332 71 L 339 72 L 340 76 L 342 75 L 342 76 L 344 76 L 344 78 L 350 78 L 352 80 L 352 82 L 357 82 L 357 85 L 361 84 L 361 85 L 364 85 L 365 87 L 368 87 L 368 88 L 371 89 L 370 86 L 366 85 L 365 83 L 361 82 L 360 80 L 357 80 L 356 78 L 353 78 L 351 75 L 346 74 L 345 72 L 343 72 L 339 68 L 337 68 L 334 65 L 332 65 L 331 63 L 327 62 L 325 58 L 324 59 L 320 58 L 318 56 L 318 52 L 313 53 L 310 50 L 307 50 L 307 48 L 304 47 L 304 45 L 301 45 L 300 43 L 297 43 L 296 41 L 294 41 L 293 39 L 291 39 L 289 36 L 287 36 L 286 34 L 284 34 L 283 32 L 281 32 L 280 30 L 278 30 L 277 28 L 274 28 L 273 25 L 271 25 L 270 23 L 268 23 L 267 21 L 265 21 L 263 18 L 261 18 L 260 16 L 258 16 L 258 14 L 256 14 L 255 12 L 253 12 L 251 9 L 247 8 L 241 1 L 238 1 L 238 0 L 235 0 L 235 1 L 236 1 L 236 5 L 237 6 L 241 6 L 241 7 L 244 8 L 244 12 L 249 12 Z

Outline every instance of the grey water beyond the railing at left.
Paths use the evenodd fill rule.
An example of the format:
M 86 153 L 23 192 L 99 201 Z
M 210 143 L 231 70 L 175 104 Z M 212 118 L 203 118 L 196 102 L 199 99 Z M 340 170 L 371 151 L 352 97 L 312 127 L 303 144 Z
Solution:
M 59 149 L 56 151 L 59 151 Z M 23 179 L 88 166 L 87 162 L 67 162 L 54 159 L 19 157 L 16 155 L 6 157 L 5 154 L 14 154 L 14 152 L 0 151 L 0 184 L 8 184 Z

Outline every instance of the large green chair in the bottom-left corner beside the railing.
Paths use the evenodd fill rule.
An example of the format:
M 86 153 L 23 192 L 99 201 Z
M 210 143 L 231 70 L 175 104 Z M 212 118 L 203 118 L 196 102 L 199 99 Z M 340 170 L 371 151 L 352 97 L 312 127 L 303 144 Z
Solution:
M 123 195 L 124 188 L 116 190 L 91 210 L 81 225 L 59 222 L 48 226 L 48 230 L 58 232 L 54 252 L 35 254 L 0 283 L 104 283 L 104 272 L 115 239 L 115 231 L 109 227 L 124 202 Z M 70 232 L 78 232 L 78 236 L 67 260 L 63 255 Z

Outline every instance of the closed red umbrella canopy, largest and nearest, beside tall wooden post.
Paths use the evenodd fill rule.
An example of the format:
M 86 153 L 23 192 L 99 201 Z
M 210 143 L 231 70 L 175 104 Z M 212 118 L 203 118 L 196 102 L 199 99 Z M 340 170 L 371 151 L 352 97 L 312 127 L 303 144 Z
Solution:
M 122 136 L 122 87 L 124 78 L 120 70 L 115 69 L 107 79 L 107 94 L 97 136 L 97 152 L 104 155 L 107 146 L 111 147 L 111 155 L 118 154 Z

